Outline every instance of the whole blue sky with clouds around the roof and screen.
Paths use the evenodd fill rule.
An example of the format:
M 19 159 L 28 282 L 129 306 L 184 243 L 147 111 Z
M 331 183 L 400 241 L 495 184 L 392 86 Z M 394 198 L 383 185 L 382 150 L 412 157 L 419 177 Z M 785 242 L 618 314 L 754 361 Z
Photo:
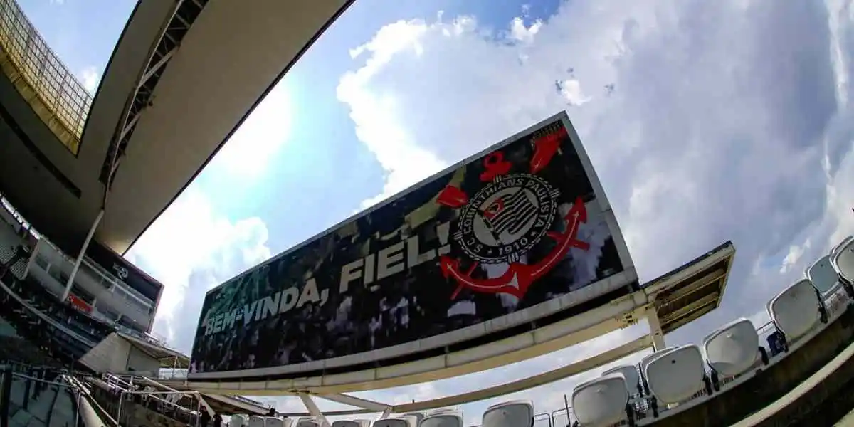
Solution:
M 132 1 L 19 3 L 94 90 Z M 726 240 L 737 249 L 722 307 L 669 343 L 699 342 L 742 316 L 761 321 L 765 301 L 854 232 L 850 0 L 498 4 L 356 2 L 130 251 L 166 285 L 155 332 L 189 351 L 206 290 L 561 110 L 641 279 Z M 581 360 L 644 328 L 359 395 L 453 395 Z M 597 373 L 497 401 L 550 412 Z M 463 407 L 467 424 L 495 401 Z

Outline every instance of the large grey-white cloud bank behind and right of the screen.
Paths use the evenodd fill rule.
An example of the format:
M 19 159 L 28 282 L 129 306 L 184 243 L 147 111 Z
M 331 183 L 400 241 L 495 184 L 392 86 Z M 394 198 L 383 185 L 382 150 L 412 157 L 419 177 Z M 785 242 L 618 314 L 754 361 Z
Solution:
M 738 249 L 722 310 L 668 339 L 761 322 L 763 301 L 854 232 L 849 3 L 601 0 L 498 33 L 441 14 L 384 26 L 338 86 L 387 173 L 366 204 L 567 109 L 642 277 L 727 239 Z M 512 369 L 365 395 L 453 394 Z M 579 379 L 523 395 L 555 409 Z

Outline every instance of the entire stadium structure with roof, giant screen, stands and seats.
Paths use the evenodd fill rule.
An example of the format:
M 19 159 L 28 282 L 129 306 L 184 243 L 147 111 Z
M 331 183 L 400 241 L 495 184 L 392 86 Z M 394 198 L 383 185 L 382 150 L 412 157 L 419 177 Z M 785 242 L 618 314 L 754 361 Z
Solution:
M 767 301 L 770 322 L 669 345 L 721 307 L 734 244 L 642 282 L 566 112 L 209 290 L 191 353 L 170 348 L 152 331 L 165 286 L 124 255 L 351 3 L 139 1 L 92 96 L 0 0 L 0 427 L 818 426 L 851 411 L 854 237 Z M 638 324 L 524 379 L 403 404 L 354 395 Z M 548 412 L 459 410 L 597 370 Z

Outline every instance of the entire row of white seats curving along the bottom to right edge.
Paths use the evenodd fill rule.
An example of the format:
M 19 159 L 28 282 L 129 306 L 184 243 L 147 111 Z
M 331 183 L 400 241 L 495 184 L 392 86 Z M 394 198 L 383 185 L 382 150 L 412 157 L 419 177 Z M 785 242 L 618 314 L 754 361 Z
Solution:
M 705 336 L 700 345 L 663 348 L 638 365 L 616 366 L 581 383 L 571 393 L 574 426 L 629 424 L 658 418 L 671 408 L 684 408 L 701 396 L 712 396 L 740 377 L 765 369 L 815 336 L 822 325 L 854 300 L 854 237 L 839 243 L 817 260 L 805 277 L 775 295 L 767 304 L 774 331 L 769 348 L 749 319 L 736 319 Z M 839 290 L 844 290 L 840 293 Z M 730 385 L 731 383 L 731 385 Z M 699 400 L 698 402 L 699 403 Z M 666 415 L 664 415 L 666 416 Z M 508 401 L 483 413 L 483 427 L 526 427 L 534 423 L 529 401 Z M 254 418 L 249 427 L 308 427 Z M 313 421 L 312 421 L 313 423 Z M 237 424 L 236 424 L 237 425 Z M 439 410 L 379 420 L 340 420 L 333 427 L 461 427 L 460 412 Z

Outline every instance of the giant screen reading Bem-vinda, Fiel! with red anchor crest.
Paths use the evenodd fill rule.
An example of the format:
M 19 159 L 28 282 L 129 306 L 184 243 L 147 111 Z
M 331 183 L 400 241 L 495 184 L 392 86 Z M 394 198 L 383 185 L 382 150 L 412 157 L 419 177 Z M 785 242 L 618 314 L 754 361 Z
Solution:
M 418 360 L 636 282 L 593 167 L 558 114 L 210 290 L 189 377 Z

